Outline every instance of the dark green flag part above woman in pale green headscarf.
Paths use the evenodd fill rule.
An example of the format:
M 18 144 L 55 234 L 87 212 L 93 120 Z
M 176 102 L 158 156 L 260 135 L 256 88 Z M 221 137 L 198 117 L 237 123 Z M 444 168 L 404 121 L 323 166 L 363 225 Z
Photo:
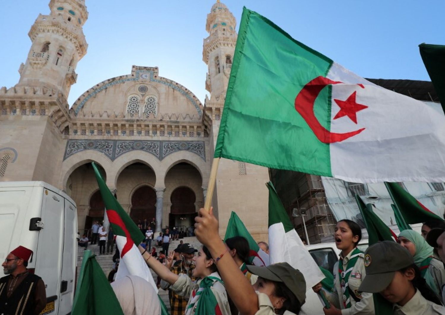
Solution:
M 423 223 L 431 219 L 443 221 L 441 217 L 432 213 L 416 198 L 411 196 L 409 192 L 405 191 L 405 189 L 403 189 L 398 183 L 385 182 L 385 186 L 386 189 L 388 189 L 394 205 L 402 214 L 402 217 L 405 219 L 406 223 Z

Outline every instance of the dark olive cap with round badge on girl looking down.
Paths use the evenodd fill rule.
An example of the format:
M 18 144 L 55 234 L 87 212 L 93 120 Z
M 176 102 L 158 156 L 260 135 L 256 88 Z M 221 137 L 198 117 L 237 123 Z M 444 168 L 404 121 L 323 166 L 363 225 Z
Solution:
M 364 277 L 359 292 L 378 293 L 383 291 L 394 278 L 396 271 L 414 264 L 409 251 L 394 241 L 381 241 L 364 253 Z

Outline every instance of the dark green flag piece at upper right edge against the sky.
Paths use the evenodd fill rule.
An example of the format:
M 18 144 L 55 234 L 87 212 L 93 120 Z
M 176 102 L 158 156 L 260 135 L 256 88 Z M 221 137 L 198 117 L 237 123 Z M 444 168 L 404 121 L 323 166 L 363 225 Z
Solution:
M 445 111 L 445 45 L 420 44 L 420 55 Z

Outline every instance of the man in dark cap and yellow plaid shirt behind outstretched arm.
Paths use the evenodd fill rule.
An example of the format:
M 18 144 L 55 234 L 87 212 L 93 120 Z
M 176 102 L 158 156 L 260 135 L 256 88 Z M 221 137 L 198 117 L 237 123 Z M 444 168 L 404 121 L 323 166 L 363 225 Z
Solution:
M 170 268 L 170 271 L 175 274 L 187 274 L 192 281 L 194 281 L 194 277 L 192 276 L 192 271 L 194 269 L 193 258 L 194 253 L 198 250 L 195 250 L 190 244 L 186 243 L 181 246 L 178 246 L 167 258 L 166 266 Z M 174 259 L 177 259 L 172 263 Z M 161 287 L 164 290 L 168 290 L 168 295 L 170 298 L 170 307 L 171 307 L 171 315 L 183 315 L 186 311 L 186 306 L 189 297 L 183 297 L 177 295 L 172 290 L 170 290 L 170 284 L 164 280 L 161 280 Z

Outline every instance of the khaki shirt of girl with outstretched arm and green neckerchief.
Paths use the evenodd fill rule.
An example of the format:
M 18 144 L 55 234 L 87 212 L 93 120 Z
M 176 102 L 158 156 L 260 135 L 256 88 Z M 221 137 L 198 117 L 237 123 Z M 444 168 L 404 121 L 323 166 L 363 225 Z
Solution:
M 217 272 L 210 274 L 210 276 L 221 278 Z M 174 282 L 174 284 L 170 286 L 170 290 L 174 291 L 180 296 L 189 296 L 189 301 L 187 303 L 188 306 L 193 298 L 192 292 L 194 289 L 198 290 L 200 282 L 201 280 L 198 280 L 198 282 L 194 283 L 186 274 L 179 274 L 178 280 L 176 280 L 176 282 Z M 227 300 L 226 288 L 223 286 L 223 284 L 217 281 L 213 284 L 213 286 L 210 287 L 210 290 L 212 290 L 212 293 L 214 294 L 216 301 L 218 302 L 221 313 L 223 315 L 231 315 L 229 301 Z M 194 314 L 194 311 L 195 309 L 193 308 L 191 312 L 192 315 Z

